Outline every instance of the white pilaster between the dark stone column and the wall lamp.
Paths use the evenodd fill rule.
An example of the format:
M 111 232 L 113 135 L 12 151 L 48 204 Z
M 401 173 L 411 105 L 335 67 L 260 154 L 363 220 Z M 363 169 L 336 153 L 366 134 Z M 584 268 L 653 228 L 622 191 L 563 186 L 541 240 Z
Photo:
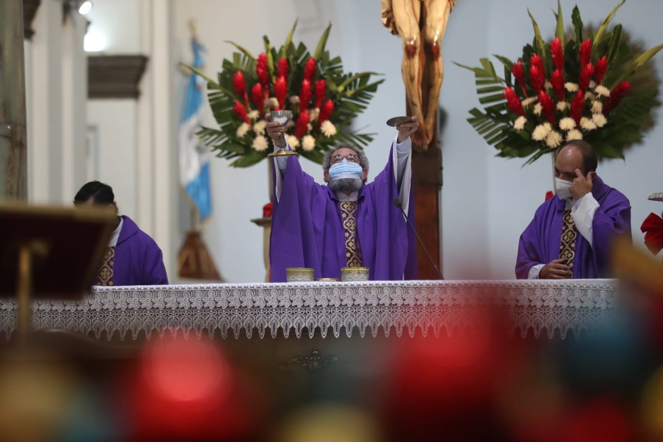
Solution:
M 70 204 L 85 175 L 87 66 L 84 19 L 62 19 L 62 3 L 42 2 L 25 42 L 28 197 Z

